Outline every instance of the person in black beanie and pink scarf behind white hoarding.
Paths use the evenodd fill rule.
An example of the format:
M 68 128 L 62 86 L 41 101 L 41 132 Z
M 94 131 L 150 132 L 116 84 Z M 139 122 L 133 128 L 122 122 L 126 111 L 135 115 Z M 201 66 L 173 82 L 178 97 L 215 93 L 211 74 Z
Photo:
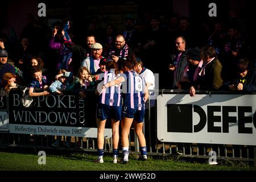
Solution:
M 183 77 L 181 77 L 179 81 L 179 89 L 189 89 L 189 87 L 197 81 L 198 74 L 203 65 L 200 52 L 199 47 L 194 47 L 187 51 L 188 64 L 184 68 Z

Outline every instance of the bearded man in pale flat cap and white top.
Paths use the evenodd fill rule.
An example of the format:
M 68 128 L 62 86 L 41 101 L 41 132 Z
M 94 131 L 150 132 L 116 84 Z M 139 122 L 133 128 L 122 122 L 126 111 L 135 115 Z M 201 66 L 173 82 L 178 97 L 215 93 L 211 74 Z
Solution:
M 92 44 L 92 55 L 89 57 L 86 57 L 84 61 L 82 61 L 82 67 L 86 67 L 90 74 L 95 75 L 97 70 L 100 69 L 100 61 L 101 59 L 104 59 L 104 57 L 101 56 L 102 54 L 102 46 L 100 43 L 94 43 Z

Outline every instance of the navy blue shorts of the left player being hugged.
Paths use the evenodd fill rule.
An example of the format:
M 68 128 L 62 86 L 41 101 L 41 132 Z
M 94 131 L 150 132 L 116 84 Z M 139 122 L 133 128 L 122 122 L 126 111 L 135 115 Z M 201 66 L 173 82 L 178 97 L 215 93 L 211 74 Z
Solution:
M 122 106 L 109 106 L 99 103 L 97 105 L 96 116 L 101 121 L 111 118 L 115 121 L 121 121 Z

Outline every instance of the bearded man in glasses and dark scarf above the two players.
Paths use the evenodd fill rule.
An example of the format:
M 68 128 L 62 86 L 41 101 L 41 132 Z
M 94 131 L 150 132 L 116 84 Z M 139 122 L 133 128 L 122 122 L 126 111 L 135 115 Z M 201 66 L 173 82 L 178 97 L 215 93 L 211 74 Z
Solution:
M 126 44 L 125 38 L 122 35 L 117 35 L 115 37 L 115 47 L 110 49 L 108 59 L 117 63 L 118 69 L 121 70 L 122 61 L 133 54 L 133 50 Z

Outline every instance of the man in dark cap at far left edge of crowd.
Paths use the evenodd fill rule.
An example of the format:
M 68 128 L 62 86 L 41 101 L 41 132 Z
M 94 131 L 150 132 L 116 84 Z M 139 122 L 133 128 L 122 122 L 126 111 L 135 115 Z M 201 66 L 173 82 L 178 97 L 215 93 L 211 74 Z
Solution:
M 0 49 L 0 85 L 5 73 L 13 73 L 15 75 L 15 68 L 8 63 L 8 53 L 5 49 Z

